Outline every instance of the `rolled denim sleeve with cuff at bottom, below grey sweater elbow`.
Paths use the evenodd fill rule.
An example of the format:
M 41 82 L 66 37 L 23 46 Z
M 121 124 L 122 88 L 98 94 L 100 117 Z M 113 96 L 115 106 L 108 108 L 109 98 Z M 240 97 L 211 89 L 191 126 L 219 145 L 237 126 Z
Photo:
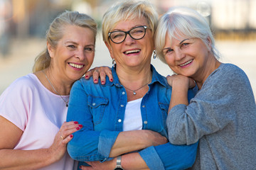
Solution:
M 143 149 L 141 155 L 149 169 L 188 169 L 196 160 L 198 142 L 193 145 L 167 143 Z

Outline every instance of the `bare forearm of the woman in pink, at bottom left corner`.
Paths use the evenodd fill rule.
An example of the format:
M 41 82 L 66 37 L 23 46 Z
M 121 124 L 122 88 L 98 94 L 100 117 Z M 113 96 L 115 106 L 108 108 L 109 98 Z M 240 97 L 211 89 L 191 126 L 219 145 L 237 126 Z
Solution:
M 57 160 L 48 149 L 36 150 L 0 150 L 0 169 L 39 169 L 53 164 Z

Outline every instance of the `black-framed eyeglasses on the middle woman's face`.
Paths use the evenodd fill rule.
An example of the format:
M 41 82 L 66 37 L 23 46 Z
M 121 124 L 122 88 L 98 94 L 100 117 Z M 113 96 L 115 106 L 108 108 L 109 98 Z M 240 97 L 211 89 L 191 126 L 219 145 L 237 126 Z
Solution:
M 115 30 L 108 33 L 108 36 L 112 42 L 119 44 L 125 40 L 127 34 L 129 34 L 134 40 L 140 40 L 146 35 L 146 26 L 137 26 L 128 31 Z

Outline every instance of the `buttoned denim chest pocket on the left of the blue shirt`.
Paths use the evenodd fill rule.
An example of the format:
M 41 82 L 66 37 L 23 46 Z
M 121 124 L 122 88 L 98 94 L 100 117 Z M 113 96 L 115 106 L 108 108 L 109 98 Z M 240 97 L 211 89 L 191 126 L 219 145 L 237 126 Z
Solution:
M 88 96 L 87 104 L 90 106 L 90 112 L 92 113 L 92 119 L 94 125 L 102 122 L 102 118 L 105 112 L 105 108 L 109 103 L 107 98 L 100 96 Z

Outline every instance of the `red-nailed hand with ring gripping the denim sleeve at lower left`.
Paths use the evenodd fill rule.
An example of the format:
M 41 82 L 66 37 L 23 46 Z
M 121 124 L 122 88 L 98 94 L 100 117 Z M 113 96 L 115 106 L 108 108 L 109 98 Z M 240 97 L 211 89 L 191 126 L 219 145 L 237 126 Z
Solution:
M 55 135 L 53 145 L 48 148 L 48 152 L 53 155 L 53 162 L 60 160 L 67 149 L 67 144 L 72 140 L 73 132 L 76 132 L 82 128 L 82 125 L 76 121 L 65 122 L 60 127 L 60 130 Z

